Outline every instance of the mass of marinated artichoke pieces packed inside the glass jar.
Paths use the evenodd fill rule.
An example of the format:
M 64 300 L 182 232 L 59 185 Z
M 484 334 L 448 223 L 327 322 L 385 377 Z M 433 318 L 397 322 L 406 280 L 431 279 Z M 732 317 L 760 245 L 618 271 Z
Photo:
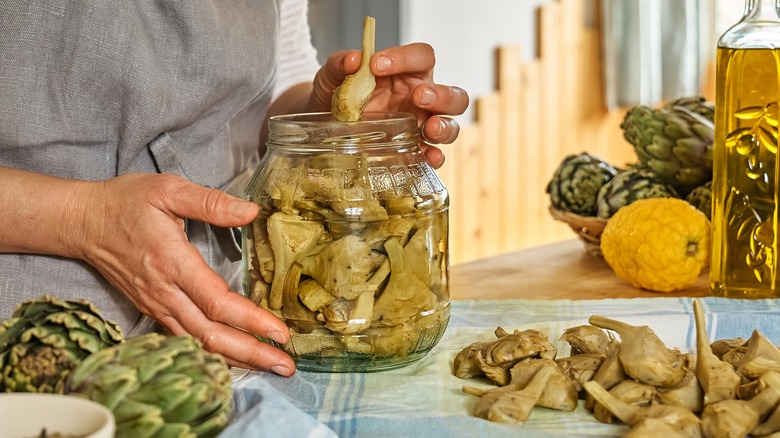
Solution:
M 446 324 L 446 209 L 434 198 L 375 198 L 366 161 L 323 153 L 310 159 L 317 178 L 299 171 L 252 197 L 261 211 L 245 229 L 247 295 L 305 335 L 295 355 L 403 357 Z

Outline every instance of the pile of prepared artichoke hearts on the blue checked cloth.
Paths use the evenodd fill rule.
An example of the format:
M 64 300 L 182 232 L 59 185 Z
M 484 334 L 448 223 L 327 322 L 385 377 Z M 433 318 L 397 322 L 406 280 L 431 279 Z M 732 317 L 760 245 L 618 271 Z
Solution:
M 647 326 L 593 315 L 568 328 L 556 357 L 547 336 L 529 329 L 473 343 L 453 361 L 461 379 L 486 377 L 492 389 L 464 386 L 479 397 L 473 414 L 522 424 L 535 407 L 571 412 L 583 406 L 603 423 L 629 427 L 627 437 L 745 437 L 780 431 L 780 349 L 760 331 L 710 342 L 694 301 L 696 352 L 664 345 Z

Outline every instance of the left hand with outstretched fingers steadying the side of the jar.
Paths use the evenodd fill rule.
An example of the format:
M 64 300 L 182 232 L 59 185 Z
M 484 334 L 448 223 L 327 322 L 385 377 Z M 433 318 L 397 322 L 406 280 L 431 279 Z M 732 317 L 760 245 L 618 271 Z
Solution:
M 231 365 L 289 376 L 295 364 L 253 334 L 285 343 L 272 313 L 232 292 L 184 232 L 191 218 L 223 227 L 250 223 L 258 207 L 173 175 L 129 174 L 88 183 L 78 256 L 175 335 L 192 334 Z

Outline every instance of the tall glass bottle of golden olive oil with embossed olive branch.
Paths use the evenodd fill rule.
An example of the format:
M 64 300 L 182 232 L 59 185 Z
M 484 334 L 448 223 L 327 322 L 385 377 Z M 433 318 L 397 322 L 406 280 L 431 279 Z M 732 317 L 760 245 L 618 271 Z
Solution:
M 716 296 L 778 290 L 780 0 L 746 0 L 718 41 L 712 263 Z

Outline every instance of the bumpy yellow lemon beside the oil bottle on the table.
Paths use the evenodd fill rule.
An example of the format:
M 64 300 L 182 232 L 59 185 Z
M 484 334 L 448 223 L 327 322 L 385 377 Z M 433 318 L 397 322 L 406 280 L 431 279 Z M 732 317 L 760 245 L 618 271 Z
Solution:
M 609 219 L 601 252 L 615 274 L 635 287 L 683 289 L 709 265 L 710 221 L 682 199 L 641 199 Z

